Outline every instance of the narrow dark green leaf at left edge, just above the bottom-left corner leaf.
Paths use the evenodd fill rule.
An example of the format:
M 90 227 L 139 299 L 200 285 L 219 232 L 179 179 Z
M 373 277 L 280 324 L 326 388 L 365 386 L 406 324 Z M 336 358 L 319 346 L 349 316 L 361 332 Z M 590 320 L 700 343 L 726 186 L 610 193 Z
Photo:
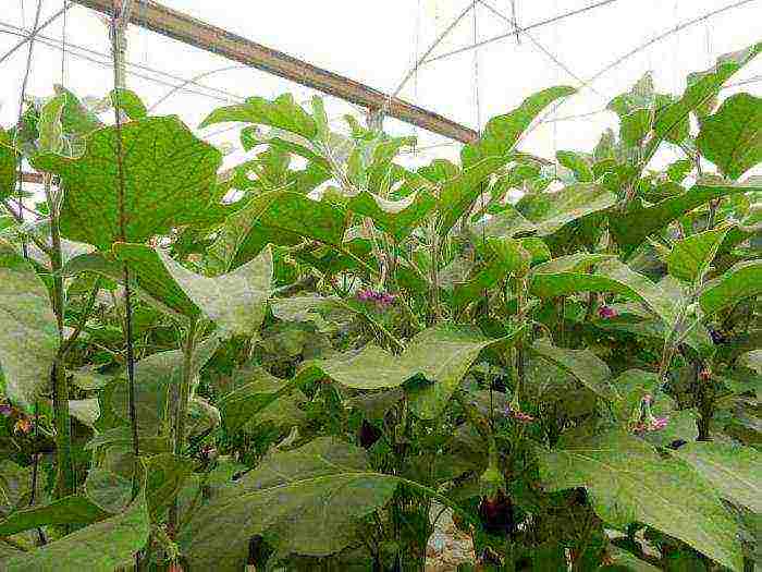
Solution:
M 0 536 L 12 536 L 51 524 L 93 524 L 108 516 L 110 516 L 108 512 L 85 497 L 64 497 L 50 504 L 30 507 L 12 513 L 0 522 Z

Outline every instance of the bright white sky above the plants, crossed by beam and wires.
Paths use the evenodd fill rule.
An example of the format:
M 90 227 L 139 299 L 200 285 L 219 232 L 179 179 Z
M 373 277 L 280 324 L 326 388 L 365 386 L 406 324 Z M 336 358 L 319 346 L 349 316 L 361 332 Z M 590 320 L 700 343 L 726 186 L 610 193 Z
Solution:
M 40 22 L 45 22 L 62 8 L 64 0 L 40 1 Z M 170 8 L 384 92 L 394 90 L 417 58 L 472 3 L 471 0 L 162 1 Z M 533 28 L 529 32 L 531 39 L 521 35 L 520 44 L 512 35 L 477 50 L 425 64 L 407 83 L 401 97 L 477 127 L 490 117 L 511 110 L 539 89 L 560 84 L 579 86 L 580 82 L 555 64 L 537 45 L 550 51 L 574 75 L 588 80 L 652 37 L 737 1 L 618 0 Z M 511 0 L 486 2 L 506 16 L 512 15 Z M 515 0 L 514 3 L 519 25 L 528 26 L 597 1 Z M 37 0 L 0 0 L 0 57 L 20 40 L 17 35 L 9 32 L 19 34 L 17 28 L 28 29 L 33 26 L 36 7 Z M 99 62 L 108 61 L 106 26 L 99 15 L 82 7 L 73 7 L 65 20 L 67 42 L 102 56 L 84 52 L 70 45 L 62 61 L 61 50 L 42 41 L 60 46 L 63 22 L 63 19 L 59 19 L 47 27 L 41 34 L 49 40 L 35 45 L 27 94 L 47 96 L 52 93 L 53 84 L 63 83 L 79 96 L 103 96 L 111 87 L 110 69 L 82 59 L 79 54 Z M 432 57 L 472 44 L 475 33 L 481 41 L 512 29 L 505 20 L 477 3 L 476 22 L 474 13 L 469 12 L 433 50 Z M 556 111 L 556 115 L 564 118 L 599 111 L 613 96 L 628 89 L 649 70 L 654 74 L 659 90 L 679 93 L 685 87 L 687 73 L 704 70 L 714 63 L 717 56 L 745 48 L 760 39 L 762 0 L 753 0 L 631 56 L 590 87 L 569 98 Z M 26 47 L 17 50 L 0 65 L 0 124 L 4 126 L 14 123 L 19 112 L 26 51 Z M 251 95 L 273 97 L 292 92 L 297 100 L 307 100 L 312 95 L 310 89 L 257 70 L 244 69 L 235 62 L 135 26 L 130 31 L 127 59 L 133 64 L 144 66 L 130 68 L 145 77 L 130 75 L 128 87 L 149 106 L 182 80 L 222 68 L 235 68 L 199 80 L 199 84 L 208 87 L 189 86 L 198 93 L 179 92 L 155 111 L 157 114 L 176 113 L 194 129 L 209 111 L 224 105 L 226 99 Z M 732 82 L 759 78 L 761 74 L 762 57 Z M 734 87 L 723 95 L 738 90 L 760 95 L 762 82 Z M 328 100 L 328 109 L 337 120 L 343 113 L 352 111 L 351 106 L 335 99 Z M 616 124 L 615 115 L 610 112 L 544 123 L 532 131 L 523 148 L 545 157 L 552 157 L 556 149 L 590 150 L 602 131 Z M 420 147 L 448 143 L 441 136 L 394 120 L 386 120 L 385 127 L 394 133 L 417 133 Z M 216 125 L 198 134 L 216 144 L 237 144 L 237 131 L 216 134 L 219 131 L 220 125 Z M 410 157 L 410 161 L 423 162 L 433 157 L 456 158 L 458 148 L 458 145 L 450 144 L 422 150 L 416 157 Z M 228 160 L 236 162 L 238 159 L 241 155 L 234 154 Z

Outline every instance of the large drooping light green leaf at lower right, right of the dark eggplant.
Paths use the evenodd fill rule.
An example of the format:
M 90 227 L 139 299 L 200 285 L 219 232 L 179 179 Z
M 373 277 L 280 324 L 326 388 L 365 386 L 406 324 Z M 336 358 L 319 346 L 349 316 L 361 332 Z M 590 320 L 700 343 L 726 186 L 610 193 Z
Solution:
M 738 525 L 714 489 L 686 463 L 664 460 L 646 441 L 613 430 L 540 453 L 550 490 L 587 487 L 595 512 L 624 530 L 642 522 L 736 572 L 742 567 Z

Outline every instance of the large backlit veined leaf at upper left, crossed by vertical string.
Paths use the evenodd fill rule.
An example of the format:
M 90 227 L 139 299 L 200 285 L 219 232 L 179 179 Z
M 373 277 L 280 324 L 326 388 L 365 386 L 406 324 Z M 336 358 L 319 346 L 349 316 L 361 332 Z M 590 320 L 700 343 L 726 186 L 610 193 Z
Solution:
M 37 169 L 60 175 L 65 188 L 63 236 L 105 251 L 120 239 L 140 243 L 183 224 L 219 218 L 222 207 L 214 186 L 220 151 L 175 117 L 132 121 L 121 131 L 125 236 L 120 231 L 115 127 L 89 135 L 79 158 L 45 154 L 33 160 Z

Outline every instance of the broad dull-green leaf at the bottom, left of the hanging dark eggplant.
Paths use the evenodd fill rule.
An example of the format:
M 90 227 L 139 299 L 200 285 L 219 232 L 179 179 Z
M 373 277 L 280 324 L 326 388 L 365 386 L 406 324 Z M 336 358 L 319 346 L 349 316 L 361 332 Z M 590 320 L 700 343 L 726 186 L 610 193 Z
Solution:
M 355 524 L 385 504 L 395 488 L 395 477 L 371 471 L 362 449 L 319 438 L 266 458 L 221 489 L 179 541 L 194 570 L 237 570 L 255 535 L 281 553 L 327 556 L 353 541 Z

